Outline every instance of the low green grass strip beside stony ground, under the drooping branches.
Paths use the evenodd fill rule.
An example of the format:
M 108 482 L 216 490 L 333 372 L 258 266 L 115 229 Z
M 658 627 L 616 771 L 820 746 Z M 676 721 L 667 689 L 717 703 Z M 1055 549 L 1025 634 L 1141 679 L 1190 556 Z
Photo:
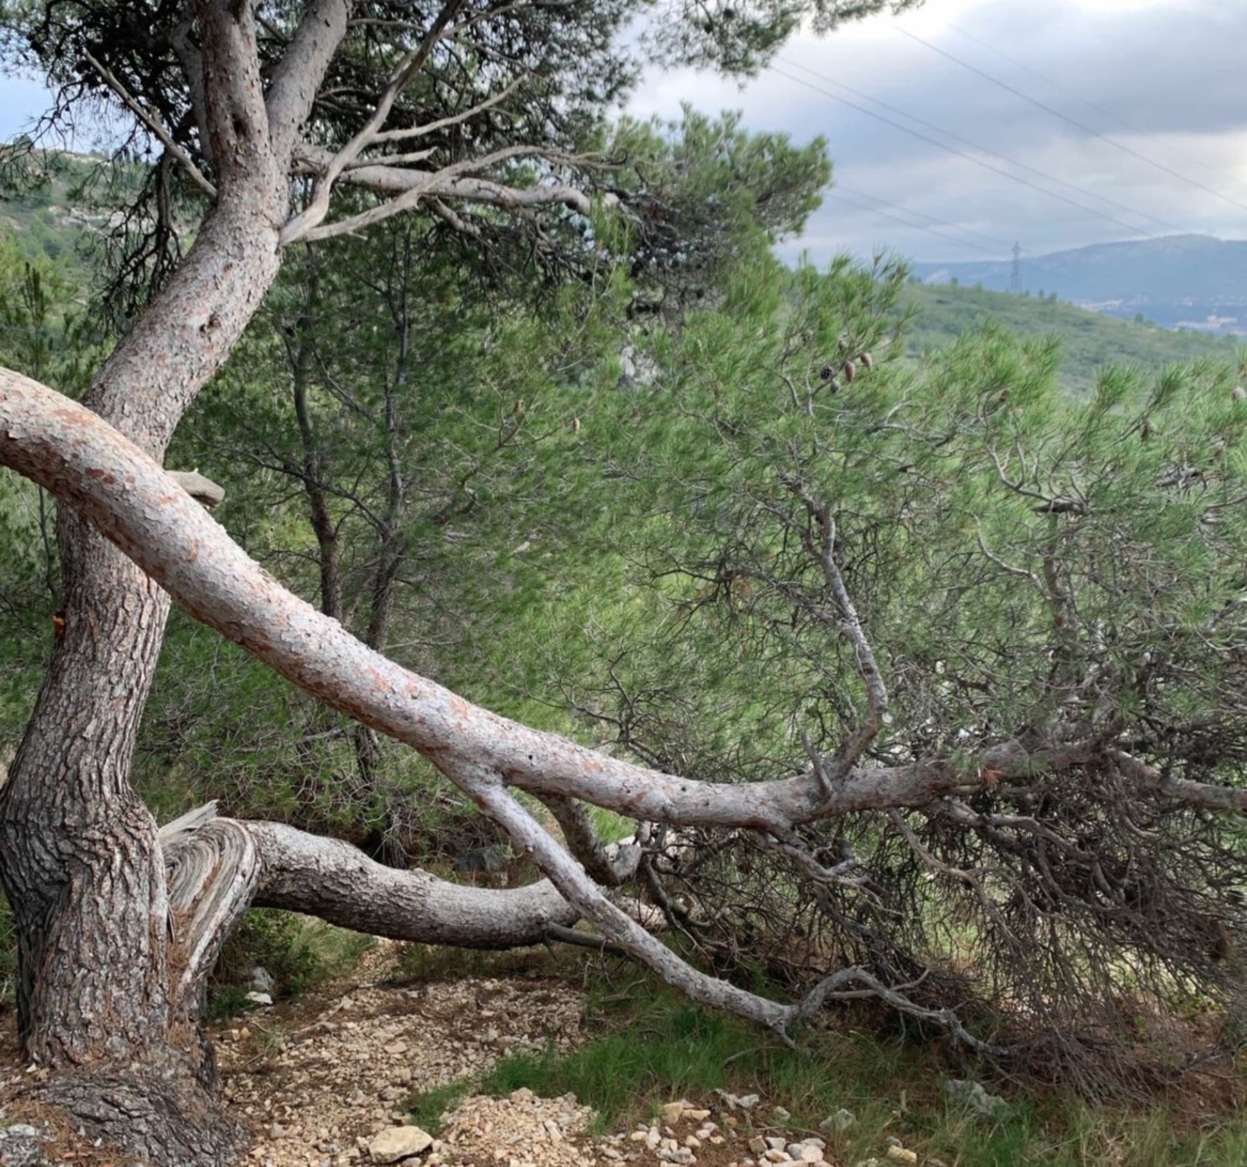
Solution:
M 948 1097 L 951 1070 L 938 1047 L 903 1037 L 809 1030 L 796 1050 L 757 1027 L 707 1012 L 651 981 L 590 1001 L 586 1029 L 599 1036 L 572 1052 L 513 1055 L 483 1090 L 525 1086 L 552 1097 L 574 1093 L 597 1112 L 595 1132 L 626 1130 L 672 1098 L 711 1100 L 715 1090 L 758 1093 L 757 1116 L 781 1105 L 794 1131 L 827 1140 L 828 1158 L 884 1162 L 898 1136 L 922 1162 L 945 1167 L 1242 1167 L 1247 1120 L 1227 1113 L 1198 1125 L 1163 1108 L 1091 1107 L 1060 1093 L 1013 1093 L 985 1118 Z M 995 1088 L 993 1087 L 994 1092 Z M 844 1132 L 818 1123 L 837 1110 L 857 1116 Z

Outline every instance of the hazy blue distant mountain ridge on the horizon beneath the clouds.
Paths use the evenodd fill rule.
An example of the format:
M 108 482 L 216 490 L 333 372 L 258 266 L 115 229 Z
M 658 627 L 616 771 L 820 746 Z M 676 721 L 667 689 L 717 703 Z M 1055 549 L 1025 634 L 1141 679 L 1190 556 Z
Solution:
M 917 263 L 914 272 L 928 284 L 956 279 L 1006 292 L 1013 263 Z M 1023 256 L 1021 284 L 1107 315 L 1247 335 L 1247 239 L 1180 234 Z

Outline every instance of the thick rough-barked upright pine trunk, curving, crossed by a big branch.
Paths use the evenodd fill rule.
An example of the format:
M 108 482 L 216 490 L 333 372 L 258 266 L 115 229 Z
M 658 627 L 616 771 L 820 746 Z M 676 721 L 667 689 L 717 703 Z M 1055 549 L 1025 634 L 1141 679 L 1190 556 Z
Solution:
M 272 283 L 288 199 L 247 69 L 254 55 L 238 51 L 249 30 L 226 5 L 205 4 L 201 20 L 221 25 L 205 36 L 205 69 L 232 79 L 209 105 L 221 105 L 211 121 L 223 127 L 213 152 L 233 165 L 186 262 L 86 396 L 157 460 Z M 198 986 L 171 980 L 193 936 L 171 911 L 156 824 L 130 785 L 168 597 L 67 510 L 59 541 L 65 605 L 52 662 L 0 793 L 21 1040 L 56 1071 L 49 1096 L 106 1138 L 116 1130 L 157 1162 L 227 1162 L 234 1132 L 206 1121 L 197 1093 L 211 1077 Z

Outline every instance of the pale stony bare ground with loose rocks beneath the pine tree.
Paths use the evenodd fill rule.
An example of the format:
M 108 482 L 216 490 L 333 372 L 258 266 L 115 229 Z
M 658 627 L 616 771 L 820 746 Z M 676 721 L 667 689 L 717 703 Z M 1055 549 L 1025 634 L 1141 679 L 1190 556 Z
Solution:
M 897 1167 L 919 1161 L 893 1140 L 882 1157 L 844 1165 L 828 1155 L 821 1135 L 852 1126 L 848 1111 L 829 1115 L 822 1132 L 797 1132 L 782 1107 L 756 1095 L 722 1091 L 712 1098 L 672 1100 L 652 1121 L 605 1135 L 591 1133 L 595 1115 L 572 1095 L 469 1093 L 434 1136 L 412 1122 L 415 1095 L 478 1081 L 511 1052 L 570 1050 L 582 1039 L 584 997 L 565 981 L 531 975 L 441 976 L 394 985 L 393 964 L 394 950 L 382 945 L 349 984 L 277 1007 L 257 1004 L 244 1019 L 214 1032 L 224 1098 L 253 1133 L 252 1163 Z M 15 1056 L 12 1035 L 4 1036 L 12 1047 L 5 1052 Z M 29 1072 L 14 1061 L 5 1085 L 16 1085 Z M 42 1145 L 45 1155 L 50 1146 L 67 1152 L 72 1136 L 50 1127 L 6 1131 L 0 1112 L 0 1163 L 44 1162 L 17 1157 L 17 1143 Z M 90 1151 L 79 1147 L 60 1158 L 102 1162 L 101 1152 Z M 928 1160 L 924 1167 L 943 1165 Z

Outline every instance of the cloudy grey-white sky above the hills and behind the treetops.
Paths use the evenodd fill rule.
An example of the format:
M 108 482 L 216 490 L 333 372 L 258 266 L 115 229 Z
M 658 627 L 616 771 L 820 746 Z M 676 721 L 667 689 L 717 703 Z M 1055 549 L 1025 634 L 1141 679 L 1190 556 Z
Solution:
M 1242 0 L 927 0 L 802 34 L 743 85 L 651 70 L 628 108 L 678 117 L 688 102 L 797 142 L 826 137 L 834 185 L 782 244 L 789 258 L 1247 238 L 1245 44 Z M 0 77 L 0 140 L 45 103 L 37 82 Z

